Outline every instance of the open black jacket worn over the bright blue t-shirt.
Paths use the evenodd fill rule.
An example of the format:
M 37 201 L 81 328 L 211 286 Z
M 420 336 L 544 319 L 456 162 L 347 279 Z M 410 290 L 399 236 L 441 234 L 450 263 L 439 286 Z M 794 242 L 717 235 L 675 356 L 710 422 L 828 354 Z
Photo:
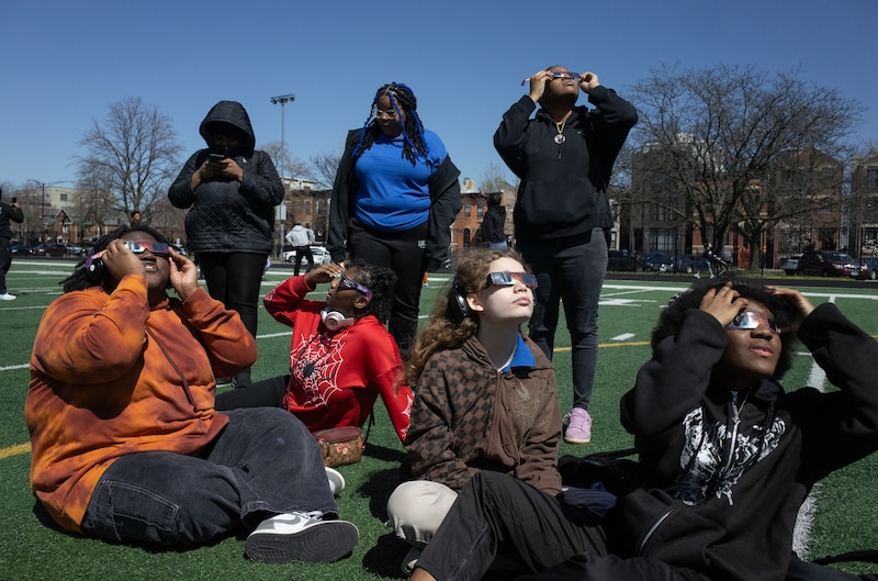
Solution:
M 353 203 L 360 189 L 357 172 L 353 170 L 357 160 L 352 154 L 357 144 L 360 143 L 361 132 L 362 129 L 348 132 L 345 154 L 341 156 L 336 182 L 333 186 L 327 250 L 335 262 L 347 259 L 350 219 L 353 216 Z M 449 226 L 454 222 L 463 205 L 460 199 L 459 177 L 460 170 L 451 161 L 451 156 L 446 156 L 430 178 L 431 205 L 430 215 L 427 219 L 427 255 L 423 265 L 424 270 L 435 270 L 450 258 L 451 232 Z

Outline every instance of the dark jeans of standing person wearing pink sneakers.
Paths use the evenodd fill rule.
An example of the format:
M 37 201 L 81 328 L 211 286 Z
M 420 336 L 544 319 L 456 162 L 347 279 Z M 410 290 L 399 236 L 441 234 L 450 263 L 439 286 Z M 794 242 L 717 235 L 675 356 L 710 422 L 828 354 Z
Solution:
M 601 228 L 583 236 L 519 241 L 518 252 L 537 275 L 530 338 L 549 359 L 564 304 L 573 360 L 573 406 L 588 409 L 597 369 L 597 305 L 607 273 L 607 239 Z

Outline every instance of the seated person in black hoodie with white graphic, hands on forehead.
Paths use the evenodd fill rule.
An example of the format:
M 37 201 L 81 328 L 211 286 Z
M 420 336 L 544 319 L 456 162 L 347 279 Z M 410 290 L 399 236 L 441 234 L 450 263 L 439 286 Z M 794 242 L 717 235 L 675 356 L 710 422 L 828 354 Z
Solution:
M 797 335 L 838 390 L 784 390 Z M 878 343 L 832 303 L 732 280 L 673 299 L 652 347 L 621 400 L 639 463 L 603 522 L 483 472 L 412 579 L 481 579 L 498 555 L 531 581 L 860 579 L 799 560 L 792 533 L 817 481 L 878 449 Z

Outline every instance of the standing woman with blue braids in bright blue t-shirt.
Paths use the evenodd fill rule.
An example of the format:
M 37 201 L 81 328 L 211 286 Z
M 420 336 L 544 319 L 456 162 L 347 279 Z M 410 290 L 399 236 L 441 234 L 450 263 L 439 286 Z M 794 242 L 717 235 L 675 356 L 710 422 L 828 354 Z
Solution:
M 424 271 L 449 258 L 449 227 L 461 209 L 459 176 L 405 85 L 381 87 L 363 127 L 348 133 L 333 188 L 328 250 L 335 262 L 349 253 L 396 272 L 389 328 L 404 355 L 417 334 Z

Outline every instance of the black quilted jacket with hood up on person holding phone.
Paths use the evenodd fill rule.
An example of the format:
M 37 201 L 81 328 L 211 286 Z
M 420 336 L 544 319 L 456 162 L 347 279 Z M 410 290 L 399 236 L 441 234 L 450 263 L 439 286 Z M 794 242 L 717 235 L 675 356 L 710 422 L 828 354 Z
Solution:
M 212 152 L 219 152 L 210 139 L 210 127 L 222 124 L 235 129 L 244 139 L 228 157 L 244 170 L 244 180 L 206 181 L 192 190 L 192 175 Z M 185 216 L 187 246 L 194 252 L 269 254 L 273 246 L 274 206 L 283 201 L 283 183 L 271 157 L 255 150 L 256 137 L 250 118 L 240 103 L 219 101 L 199 127 L 206 149 L 195 152 L 168 191 L 177 208 L 190 208 Z

